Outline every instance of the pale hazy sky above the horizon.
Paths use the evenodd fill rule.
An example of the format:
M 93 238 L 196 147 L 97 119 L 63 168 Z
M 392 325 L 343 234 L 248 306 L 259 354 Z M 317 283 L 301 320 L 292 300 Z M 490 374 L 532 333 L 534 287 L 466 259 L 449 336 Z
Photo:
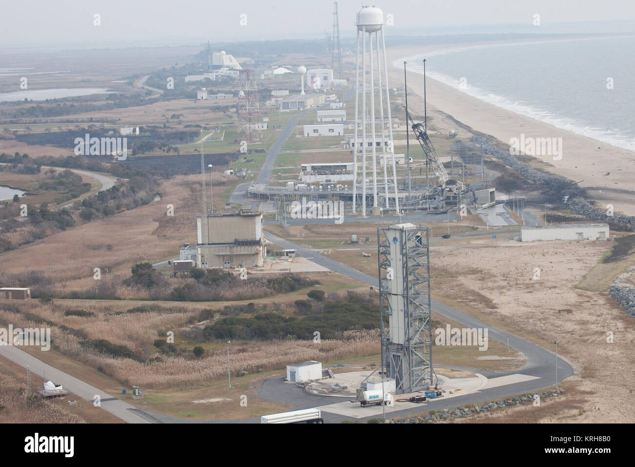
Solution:
M 535 13 L 545 31 L 563 22 L 635 19 L 632 0 L 390 0 L 375 5 L 384 15 L 393 15 L 394 32 L 463 25 L 531 27 Z M 360 6 L 359 1 L 338 2 L 342 36 L 354 32 Z M 0 46 L 313 39 L 331 30 L 332 12 L 330 0 L 6 0 Z M 93 25 L 95 14 L 100 15 L 99 26 Z M 240 24 L 243 14 L 246 25 Z

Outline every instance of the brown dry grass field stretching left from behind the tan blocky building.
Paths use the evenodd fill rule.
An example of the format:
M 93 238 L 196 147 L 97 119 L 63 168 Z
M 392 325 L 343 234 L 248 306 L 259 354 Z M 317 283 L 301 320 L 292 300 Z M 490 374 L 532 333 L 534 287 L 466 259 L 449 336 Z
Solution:
M 217 174 L 218 181 L 229 176 Z M 231 178 L 231 177 L 230 177 Z M 161 184 L 161 201 L 74 227 L 44 240 L 4 252 L 3 273 L 42 271 L 61 290 L 93 287 L 94 267 L 110 267 L 127 277 L 137 262 L 157 262 L 178 255 L 181 243 L 196 243 L 195 175 L 180 175 Z M 222 186 L 215 187 L 222 190 Z M 174 216 L 166 206 L 174 206 Z M 107 280 L 107 274 L 102 280 Z

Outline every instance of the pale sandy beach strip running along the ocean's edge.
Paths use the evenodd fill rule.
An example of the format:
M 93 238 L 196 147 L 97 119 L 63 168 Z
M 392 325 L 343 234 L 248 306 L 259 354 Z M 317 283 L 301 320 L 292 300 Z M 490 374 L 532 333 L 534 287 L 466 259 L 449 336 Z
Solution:
M 448 44 L 434 47 L 387 48 L 391 87 L 403 86 L 403 67 L 392 65 L 396 60 L 403 62 L 404 58 L 414 55 L 458 47 L 458 44 Z M 469 71 L 466 71 L 466 76 L 469 76 Z M 408 72 L 408 89 L 411 93 L 408 95 L 409 107 L 412 106 L 417 114 L 423 114 L 422 74 Z M 535 138 L 562 138 L 562 159 L 553 161 L 549 158 L 542 166 L 552 173 L 576 182 L 583 180 L 580 186 L 587 189 L 591 199 L 598 202 L 599 208 L 606 208 L 606 205 L 611 204 L 616 213 L 635 215 L 634 152 L 502 109 L 429 77 L 426 80 L 426 94 L 427 113 L 431 118 L 429 122 L 439 130 L 454 128 L 462 133 L 460 136 L 465 137 L 465 131 L 460 131 L 451 119 L 443 115 L 445 113 L 473 130 L 491 135 L 504 144 L 509 144 L 512 138 L 519 138 L 521 133 Z M 610 175 L 606 175 L 608 172 Z

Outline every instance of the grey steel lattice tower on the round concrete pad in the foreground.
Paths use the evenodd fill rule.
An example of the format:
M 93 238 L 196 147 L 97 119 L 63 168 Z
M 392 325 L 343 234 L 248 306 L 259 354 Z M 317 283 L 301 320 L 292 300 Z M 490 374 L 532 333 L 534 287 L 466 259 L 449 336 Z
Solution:
M 382 369 L 395 379 L 398 393 L 438 383 L 432 368 L 428 242 L 427 227 L 396 224 L 377 229 Z

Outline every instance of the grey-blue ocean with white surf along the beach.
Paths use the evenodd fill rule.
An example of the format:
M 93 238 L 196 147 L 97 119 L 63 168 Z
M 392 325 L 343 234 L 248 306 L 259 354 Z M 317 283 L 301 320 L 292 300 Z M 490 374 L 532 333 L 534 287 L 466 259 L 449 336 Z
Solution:
M 635 151 L 635 36 L 457 45 L 394 64 L 423 74 L 423 58 L 426 76 L 472 97 Z

